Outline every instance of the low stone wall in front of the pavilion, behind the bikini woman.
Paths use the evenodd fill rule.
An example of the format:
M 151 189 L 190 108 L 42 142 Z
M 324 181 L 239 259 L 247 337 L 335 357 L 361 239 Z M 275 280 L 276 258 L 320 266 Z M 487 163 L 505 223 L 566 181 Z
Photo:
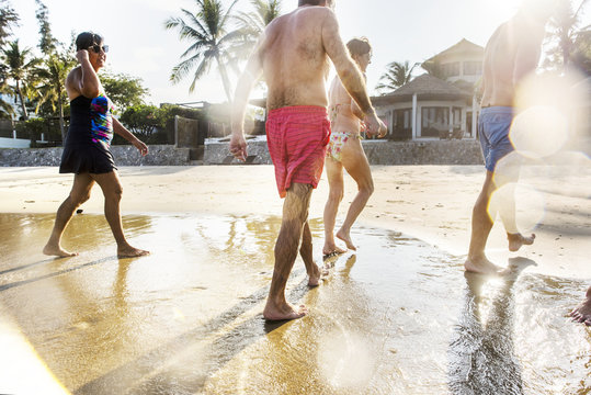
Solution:
M 476 140 L 362 142 L 371 165 L 482 165 Z M 271 163 L 266 142 L 248 143 L 248 162 Z M 205 146 L 204 165 L 239 163 L 229 155 L 227 143 Z

